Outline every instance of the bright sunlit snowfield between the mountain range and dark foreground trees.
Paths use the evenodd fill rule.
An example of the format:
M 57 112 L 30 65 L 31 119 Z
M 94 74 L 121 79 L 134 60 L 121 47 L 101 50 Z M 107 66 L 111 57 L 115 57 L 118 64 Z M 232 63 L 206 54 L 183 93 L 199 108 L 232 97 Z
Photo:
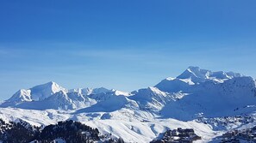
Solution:
M 124 111 L 124 110 L 123 110 Z M 127 111 L 127 110 L 126 110 Z M 128 112 L 126 112 L 129 114 Z M 105 113 L 106 114 L 106 113 Z M 145 112 L 145 114 L 147 114 Z M 111 133 L 113 137 L 122 137 L 126 142 L 146 143 L 159 134 L 165 132 L 166 129 L 175 128 L 195 128 L 196 134 L 203 137 L 203 141 L 210 140 L 215 137 L 218 131 L 213 131 L 209 125 L 195 121 L 181 122 L 175 119 L 153 119 L 153 116 L 148 116 L 149 121 L 143 122 L 142 118 L 147 116 L 137 116 L 140 120 L 134 120 L 134 116 L 129 116 L 127 120 L 122 120 L 123 113 L 116 111 L 112 112 L 113 119 L 100 119 L 98 116 L 104 115 L 99 113 L 98 116 L 89 118 L 88 113 L 74 114 L 72 110 L 22 110 L 15 108 L 0 108 L 0 117 L 5 116 L 9 120 L 15 121 L 20 118 L 35 126 L 45 126 L 54 124 L 59 121 L 68 119 L 83 122 L 92 128 L 98 128 L 103 134 Z M 132 122 L 131 122 L 132 121 Z

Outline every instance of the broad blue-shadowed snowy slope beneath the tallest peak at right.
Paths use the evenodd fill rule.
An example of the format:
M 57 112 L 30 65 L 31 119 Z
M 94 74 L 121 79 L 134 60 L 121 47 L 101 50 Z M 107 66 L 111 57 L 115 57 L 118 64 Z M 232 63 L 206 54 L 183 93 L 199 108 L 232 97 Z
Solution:
M 200 113 L 206 117 L 234 116 L 241 114 L 238 109 L 256 104 L 255 81 L 252 77 L 228 74 L 219 78 L 203 78 L 205 80 L 200 82 L 192 80 L 197 84 L 181 90 L 188 95 L 175 103 L 167 104 L 161 114 L 179 120 L 191 120 L 197 118 Z

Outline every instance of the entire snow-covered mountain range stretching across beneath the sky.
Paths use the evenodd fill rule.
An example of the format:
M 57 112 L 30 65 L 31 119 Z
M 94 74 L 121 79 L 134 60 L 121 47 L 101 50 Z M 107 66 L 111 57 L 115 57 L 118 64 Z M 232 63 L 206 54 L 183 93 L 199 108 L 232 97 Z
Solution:
M 256 104 L 255 97 L 255 80 L 252 77 L 189 67 L 176 78 L 169 77 L 156 86 L 130 93 L 103 87 L 66 90 L 55 82 L 48 82 L 28 90 L 22 89 L 0 106 L 90 112 L 136 109 L 190 120 L 201 112 L 205 116 L 240 114 L 233 110 Z

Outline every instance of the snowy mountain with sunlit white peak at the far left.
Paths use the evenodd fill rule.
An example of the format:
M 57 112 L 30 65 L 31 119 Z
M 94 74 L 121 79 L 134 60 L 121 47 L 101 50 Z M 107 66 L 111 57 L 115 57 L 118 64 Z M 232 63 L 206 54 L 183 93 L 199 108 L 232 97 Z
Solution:
M 50 81 L 29 89 L 19 90 L 11 98 L 3 101 L 0 106 L 33 110 L 74 110 L 96 104 L 93 98 L 87 97 L 88 95 L 109 91 L 111 90 L 103 87 L 67 90 L 57 83 Z

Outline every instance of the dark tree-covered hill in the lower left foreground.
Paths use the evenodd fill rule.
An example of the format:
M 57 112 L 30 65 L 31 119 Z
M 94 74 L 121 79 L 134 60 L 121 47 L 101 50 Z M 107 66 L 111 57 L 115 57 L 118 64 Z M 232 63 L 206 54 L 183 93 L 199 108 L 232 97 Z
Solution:
M 81 122 L 73 122 L 72 120 L 39 128 L 22 120 L 4 122 L 0 119 L 0 127 L 0 141 L 3 143 L 47 143 L 53 142 L 53 140 L 93 142 L 100 140 L 97 128 L 91 128 Z

